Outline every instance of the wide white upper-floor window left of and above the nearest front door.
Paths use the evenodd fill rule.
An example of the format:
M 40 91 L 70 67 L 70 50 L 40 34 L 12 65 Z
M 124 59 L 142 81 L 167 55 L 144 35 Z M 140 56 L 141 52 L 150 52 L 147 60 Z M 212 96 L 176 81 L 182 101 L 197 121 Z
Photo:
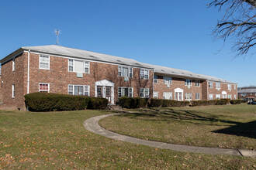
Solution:
M 68 59 L 68 71 L 77 73 L 89 73 L 90 63 L 88 61 Z

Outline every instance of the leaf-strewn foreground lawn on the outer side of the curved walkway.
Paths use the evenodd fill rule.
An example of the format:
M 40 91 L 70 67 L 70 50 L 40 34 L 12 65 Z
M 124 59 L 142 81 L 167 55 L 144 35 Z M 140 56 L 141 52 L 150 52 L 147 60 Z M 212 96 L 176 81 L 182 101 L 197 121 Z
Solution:
M 149 148 L 92 134 L 83 127 L 89 117 L 108 113 L 1 111 L 0 169 L 256 168 L 255 158 Z

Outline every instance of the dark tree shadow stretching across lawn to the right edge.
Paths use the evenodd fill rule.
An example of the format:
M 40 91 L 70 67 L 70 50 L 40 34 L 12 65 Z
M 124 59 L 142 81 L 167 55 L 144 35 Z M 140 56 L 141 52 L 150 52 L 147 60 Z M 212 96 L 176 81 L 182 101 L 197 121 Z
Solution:
M 207 115 L 206 113 L 203 114 Z M 147 119 L 148 117 L 148 121 L 185 121 L 191 124 L 206 124 L 222 127 L 228 126 L 228 128 L 223 128 L 212 132 L 244 136 L 247 138 L 256 138 L 256 121 L 241 123 L 237 121 L 223 120 L 213 114 L 208 115 L 208 117 L 200 116 L 199 114 L 194 114 L 188 110 L 158 110 L 151 108 L 150 110 L 141 110 L 140 113 L 126 114 L 123 116 L 130 118 L 143 117 L 144 119 Z

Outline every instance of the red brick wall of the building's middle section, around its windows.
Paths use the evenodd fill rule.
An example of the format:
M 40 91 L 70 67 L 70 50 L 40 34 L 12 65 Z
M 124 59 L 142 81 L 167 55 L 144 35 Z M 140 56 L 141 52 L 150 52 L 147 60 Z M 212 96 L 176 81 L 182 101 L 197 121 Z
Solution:
M 200 93 L 200 100 L 202 100 L 202 83 L 203 81 L 201 80 L 200 86 L 195 87 L 195 80 L 192 80 L 192 86 L 188 88 L 187 86 L 185 86 L 185 79 L 172 77 L 172 84 L 170 85 L 170 87 L 167 87 L 167 85 L 164 84 L 163 76 L 158 75 L 158 83 L 154 83 L 154 91 L 158 92 L 159 99 L 164 98 L 164 92 L 172 92 L 172 99 L 175 100 L 175 89 L 181 88 L 182 90 L 184 90 L 184 100 L 185 93 L 192 93 L 192 100 L 195 100 L 195 93 Z

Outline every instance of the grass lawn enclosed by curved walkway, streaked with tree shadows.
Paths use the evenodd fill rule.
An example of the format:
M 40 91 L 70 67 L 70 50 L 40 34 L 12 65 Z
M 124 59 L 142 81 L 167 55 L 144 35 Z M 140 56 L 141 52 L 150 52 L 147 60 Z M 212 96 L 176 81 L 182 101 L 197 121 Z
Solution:
M 255 105 L 153 108 L 139 111 L 107 117 L 99 124 L 109 131 L 146 140 L 256 149 Z

